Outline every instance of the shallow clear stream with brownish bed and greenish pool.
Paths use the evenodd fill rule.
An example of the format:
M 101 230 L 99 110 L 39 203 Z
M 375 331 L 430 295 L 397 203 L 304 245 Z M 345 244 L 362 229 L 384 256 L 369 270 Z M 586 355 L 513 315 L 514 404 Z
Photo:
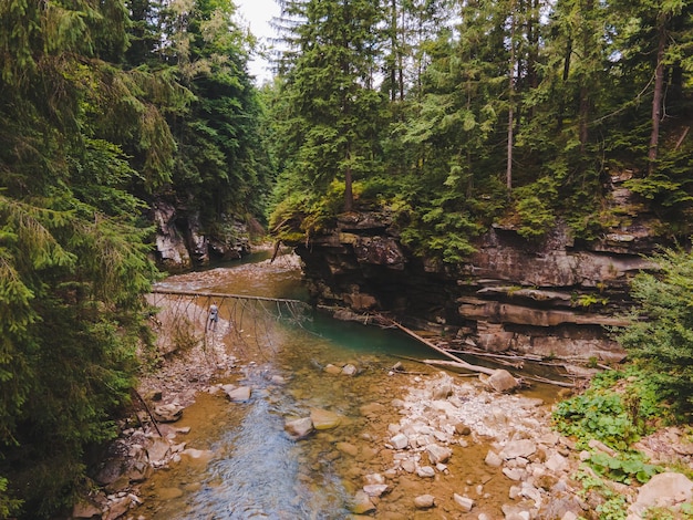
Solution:
M 161 285 L 304 297 L 298 267 L 281 259 L 170 277 Z M 175 424 L 189 426 L 190 431 L 175 441 L 204 450 L 205 456 L 184 456 L 157 470 L 143 485 L 144 503 L 136 510 L 141 519 L 348 518 L 365 476 L 392 466 L 391 450 L 382 449 L 382 438 L 387 425 L 399 420 L 399 410 L 390 404 L 402 395 L 405 382 L 390 368 L 402 362 L 407 371 L 436 372 L 402 361 L 403 356 L 433 357 L 432 353 L 397 331 L 321 315 L 301 324 L 282 319 L 262 321 L 258 325 L 257 320 L 246 318 L 236 331 L 236 340 L 245 341 L 240 346 L 238 341 L 224 346 L 238 364 L 221 383 L 249 386 L 250 399 L 230 403 L 221 393 L 198 393 L 195 404 Z M 219 331 L 215 341 L 225 337 L 230 334 Z M 328 364 L 346 363 L 359 367 L 356 376 L 330 375 L 323 370 Z M 314 409 L 339 414 L 339 426 L 292 440 L 285 433 L 285 423 Z M 467 475 L 468 482 L 488 482 L 492 477 L 484 474 L 483 464 L 486 449 L 468 451 L 451 471 Z M 446 485 L 436 480 L 425 486 Z M 421 479 L 401 481 L 396 491 L 381 499 L 377 518 L 466 518 L 417 512 L 412 497 L 423 492 Z M 497 492 L 507 497 L 507 486 Z

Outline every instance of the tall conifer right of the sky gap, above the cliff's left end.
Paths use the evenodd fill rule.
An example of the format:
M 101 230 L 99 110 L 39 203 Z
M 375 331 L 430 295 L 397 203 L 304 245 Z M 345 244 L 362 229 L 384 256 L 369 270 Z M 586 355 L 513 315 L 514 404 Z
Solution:
M 350 211 L 353 180 L 376 164 L 382 98 L 373 73 L 383 11 L 366 0 L 306 0 L 286 2 L 283 15 L 292 20 L 292 48 L 280 67 L 291 168 L 317 193 L 343 181 L 343 209 Z

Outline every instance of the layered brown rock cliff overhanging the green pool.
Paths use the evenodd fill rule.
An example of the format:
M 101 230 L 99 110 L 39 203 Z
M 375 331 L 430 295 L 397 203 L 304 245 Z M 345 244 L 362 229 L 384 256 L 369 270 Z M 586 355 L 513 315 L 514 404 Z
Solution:
M 496 227 L 467 263 L 449 266 L 411 254 L 387 212 L 352 212 L 296 252 L 311 295 L 335 316 L 386 312 L 488 351 L 613 361 L 623 353 L 604 325 L 624 324 L 629 282 L 652 268 L 647 223 L 631 228 L 577 245 L 558 225 L 539 245 Z

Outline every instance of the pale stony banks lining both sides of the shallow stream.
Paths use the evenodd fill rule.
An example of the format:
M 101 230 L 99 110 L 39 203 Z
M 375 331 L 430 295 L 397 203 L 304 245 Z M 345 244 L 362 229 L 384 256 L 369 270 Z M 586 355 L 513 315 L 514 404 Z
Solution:
M 200 392 L 249 399 L 254 388 L 228 382 L 254 363 L 227 354 L 224 347 L 210 357 L 198 345 L 169 357 L 156 374 L 143 378 L 139 393 L 148 410 L 143 407 L 137 422 L 123 423 L 111 457 L 95 475 L 102 491 L 81 501 L 73 518 L 149 518 L 141 487 L 153 471 L 186 457 L 199 464 L 211 457 L 188 448 L 189 428 L 176 427 L 186 406 Z M 356 366 L 329 364 L 322 372 L 322 377 L 359 377 Z M 354 467 L 361 466 L 352 470 L 362 483 L 351 487 L 354 518 L 597 519 L 606 518 L 598 512 L 606 490 L 624 497 L 631 520 L 648 518 L 644 511 L 654 505 L 691 502 L 693 482 L 670 472 L 640 488 L 607 481 L 601 492 L 586 492 L 578 476 L 597 476 L 585 461 L 596 453 L 610 453 L 609 448 L 592 443 L 588 449 L 577 449 L 551 429 L 549 403 L 517 392 L 499 393 L 485 376 L 392 370 L 382 378 L 385 397 L 360 408 L 365 426 L 359 443 L 333 443 L 334 457 L 349 457 Z M 277 383 L 278 392 L 282 385 L 283 381 Z M 291 424 L 296 418 L 287 417 L 287 435 L 307 443 L 325 433 L 338 438 L 340 422 L 322 412 L 306 417 L 306 429 L 298 435 Z M 681 431 L 661 431 L 641 441 L 641 447 L 655 459 L 693 469 L 693 445 Z

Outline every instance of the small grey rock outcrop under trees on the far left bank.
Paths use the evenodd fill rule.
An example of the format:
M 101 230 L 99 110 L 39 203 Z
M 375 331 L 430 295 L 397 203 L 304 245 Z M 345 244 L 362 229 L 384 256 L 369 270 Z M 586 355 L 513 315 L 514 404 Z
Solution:
M 206 235 L 198 211 L 188 211 L 166 201 L 152 207 L 156 225 L 156 261 L 169 271 L 206 266 L 211 259 L 235 260 L 250 252 L 249 230 L 230 217 Z

